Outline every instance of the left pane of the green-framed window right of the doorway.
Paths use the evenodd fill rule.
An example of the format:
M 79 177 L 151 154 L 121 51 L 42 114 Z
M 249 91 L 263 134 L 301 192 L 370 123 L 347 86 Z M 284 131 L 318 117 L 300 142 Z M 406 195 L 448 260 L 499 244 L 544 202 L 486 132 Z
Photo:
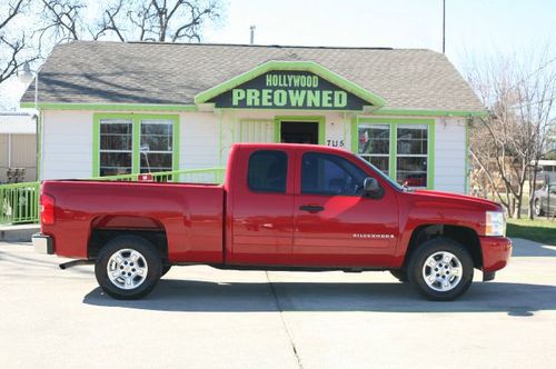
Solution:
M 359 156 L 388 174 L 390 168 L 390 126 L 359 126 L 358 133 Z

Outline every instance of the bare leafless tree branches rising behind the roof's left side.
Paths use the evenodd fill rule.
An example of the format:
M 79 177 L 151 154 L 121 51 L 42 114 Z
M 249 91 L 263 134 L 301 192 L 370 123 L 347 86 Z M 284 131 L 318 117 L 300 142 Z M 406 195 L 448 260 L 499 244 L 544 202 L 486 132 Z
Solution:
M 199 42 L 207 20 L 221 11 L 219 0 L 108 0 L 99 16 L 87 0 L 41 0 L 41 39 Z

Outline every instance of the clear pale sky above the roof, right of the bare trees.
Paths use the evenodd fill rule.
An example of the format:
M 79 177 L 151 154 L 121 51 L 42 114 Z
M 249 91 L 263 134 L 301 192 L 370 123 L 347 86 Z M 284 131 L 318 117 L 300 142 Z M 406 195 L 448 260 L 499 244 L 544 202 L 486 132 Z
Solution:
M 203 42 L 418 48 L 441 51 L 441 0 L 224 0 Z M 465 73 L 471 62 L 548 50 L 556 58 L 556 0 L 446 0 L 446 54 Z M 552 58 L 550 58 L 552 59 Z M 0 100 L 17 101 L 12 81 Z

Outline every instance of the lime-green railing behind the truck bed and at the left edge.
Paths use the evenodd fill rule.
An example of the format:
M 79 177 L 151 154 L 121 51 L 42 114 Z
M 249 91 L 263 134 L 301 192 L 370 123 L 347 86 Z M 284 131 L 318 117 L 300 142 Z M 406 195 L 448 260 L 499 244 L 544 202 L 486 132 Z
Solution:
M 153 182 L 222 183 L 225 168 L 172 170 L 148 173 Z M 97 177 L 103 181 L 138 181 L 141 174 Z M 0 184 L 0 225 L 39 221 L 40 182 Z

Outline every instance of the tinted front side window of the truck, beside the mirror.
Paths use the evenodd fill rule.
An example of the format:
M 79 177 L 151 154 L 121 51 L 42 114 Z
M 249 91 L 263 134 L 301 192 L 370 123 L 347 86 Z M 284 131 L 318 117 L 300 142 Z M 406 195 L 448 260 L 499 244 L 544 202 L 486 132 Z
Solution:
M 344 158 L 308 152 L 301 162 L 301 193 L 360 196 L 366 177 Z

